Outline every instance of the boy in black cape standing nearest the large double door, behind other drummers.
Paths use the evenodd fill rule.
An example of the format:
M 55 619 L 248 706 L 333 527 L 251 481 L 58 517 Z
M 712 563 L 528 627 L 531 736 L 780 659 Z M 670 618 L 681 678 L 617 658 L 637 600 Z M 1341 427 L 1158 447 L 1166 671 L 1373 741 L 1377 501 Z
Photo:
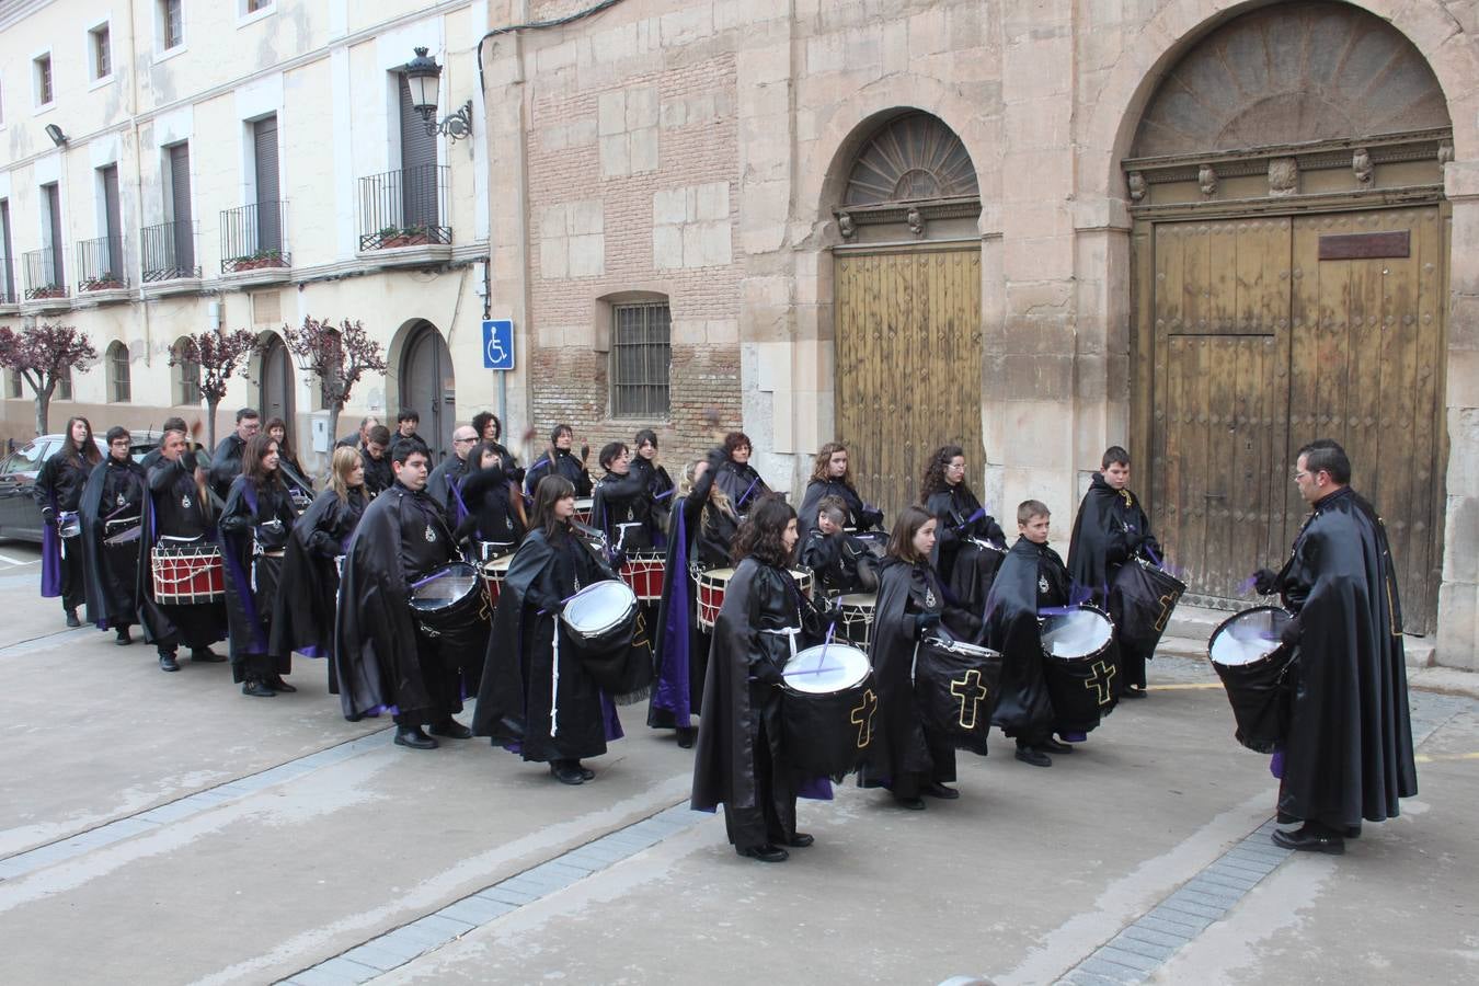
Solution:
M 1130 452 L 1118 445 L 1105 449 L 1103 472 L 1094 473 L 1078 504 L 1074 537 L 1068 544 L 1068 574 L 1081 593 L 1109 613 L 1118 627 L 1115 575 L 1136 557 L 1161 563 L 1161 545 L 1151 534 L 1151 519 L 1130 491 Z M 1145 698 L 1145 662 L 1152 656 L 1115 633 L 1120 674 L 1117 698 Z

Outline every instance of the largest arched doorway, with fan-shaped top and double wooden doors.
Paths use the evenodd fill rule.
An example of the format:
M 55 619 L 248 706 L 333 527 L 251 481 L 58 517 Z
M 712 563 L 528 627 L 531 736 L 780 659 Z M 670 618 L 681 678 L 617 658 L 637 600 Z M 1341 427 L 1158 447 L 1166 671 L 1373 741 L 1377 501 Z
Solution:
M 1229 21 L 1149 101 L 1124 163 L 1131 438 L 1202 600 L 1250 599 L 1288 553 L 1307 513 L 1288 464 L 1333 438 L 1383 510 L 1408 631 L 1433 627 L 1449 139 L 1417 49 L 1340 3 Z

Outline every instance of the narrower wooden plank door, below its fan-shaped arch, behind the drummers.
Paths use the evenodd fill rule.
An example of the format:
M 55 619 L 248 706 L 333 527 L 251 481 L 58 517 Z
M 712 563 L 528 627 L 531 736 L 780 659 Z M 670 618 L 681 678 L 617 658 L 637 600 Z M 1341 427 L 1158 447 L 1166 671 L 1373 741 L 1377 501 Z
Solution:
M 836 257 L 837 438 L 892 523 L 939 445 L 981 476 L 981 251 Z M 979 486 L 979 479 L 973 480 Z

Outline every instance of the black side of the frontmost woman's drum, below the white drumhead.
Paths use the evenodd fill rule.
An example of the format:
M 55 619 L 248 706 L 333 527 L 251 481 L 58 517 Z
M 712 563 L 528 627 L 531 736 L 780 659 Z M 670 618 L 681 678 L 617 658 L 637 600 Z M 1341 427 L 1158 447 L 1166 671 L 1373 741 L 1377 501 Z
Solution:
M 803 778 L 840 778 L 856 769 L 873 738 L 877 707 L 873 676 L 839 692 L 781 689 L 781 736 L 785 758 Z M 870 701 L 871 699 L 871 701 Z M 858 717 L 859 721 L 853 721 Z

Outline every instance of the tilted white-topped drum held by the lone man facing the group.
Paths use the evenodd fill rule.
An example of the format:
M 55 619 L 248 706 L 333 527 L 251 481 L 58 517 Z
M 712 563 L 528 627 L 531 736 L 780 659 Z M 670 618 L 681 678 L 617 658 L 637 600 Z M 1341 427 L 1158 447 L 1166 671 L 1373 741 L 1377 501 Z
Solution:
M 1262 754 L 1282 745 L 1290 720 L 1294 652 L 1279 642 L 1291 616 L 1256 606 L 1229 616 L 1207 642 L 1211 667 L 1228 689 L 1239 744 Z

